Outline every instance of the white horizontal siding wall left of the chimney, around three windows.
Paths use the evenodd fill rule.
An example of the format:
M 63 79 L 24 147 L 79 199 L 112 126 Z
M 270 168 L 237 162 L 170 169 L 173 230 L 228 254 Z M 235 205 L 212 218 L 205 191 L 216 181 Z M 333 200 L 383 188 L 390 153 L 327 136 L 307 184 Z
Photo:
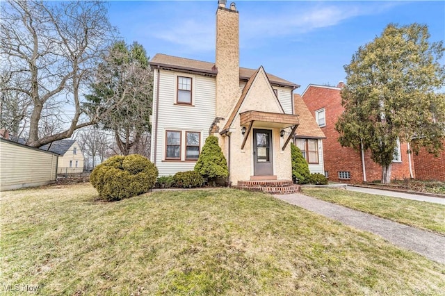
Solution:
M 159 168 L 160 176 L 176 174 L 193 170 L 196 161 L 185 161 L 186 131 L 200 132 L 200 149 L 209 135 L 209 128 L 215 119 L 216 81 L 214 77 L 207 77 L 181 72 L 160 70 L 159 75 L 159 114 L 156 135 L 156 159 L 152 149 L 151 159 Z M 177 76 L 192 78 L 192 105 L 175 104 L 177 95 Z M 156 114 L 156 95 L 158 79 L 154 74 L 154 110 Z M 152 126 L 156 126 L 156 116 L 152 117 Z M 165 131 L 181 131 L 181 161 L 165 161 Z M 154 147 L 152 138 L 152 147 Z

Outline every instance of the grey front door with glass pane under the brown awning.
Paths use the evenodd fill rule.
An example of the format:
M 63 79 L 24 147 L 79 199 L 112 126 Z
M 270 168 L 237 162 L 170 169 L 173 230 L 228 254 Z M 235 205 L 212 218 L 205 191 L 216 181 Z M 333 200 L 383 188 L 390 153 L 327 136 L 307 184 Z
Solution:
M 272 176 L 272 131 L 269 129 L 254 129 L 253 146 L 254 176 Z

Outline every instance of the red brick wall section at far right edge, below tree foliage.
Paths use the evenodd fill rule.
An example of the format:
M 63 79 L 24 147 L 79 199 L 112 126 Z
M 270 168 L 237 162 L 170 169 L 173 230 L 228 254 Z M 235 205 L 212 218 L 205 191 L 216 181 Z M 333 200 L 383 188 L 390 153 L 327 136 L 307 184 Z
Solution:
M 413 158 L 417 179 L 445 181 L 445 151 L 435 157 L 423 148 Z

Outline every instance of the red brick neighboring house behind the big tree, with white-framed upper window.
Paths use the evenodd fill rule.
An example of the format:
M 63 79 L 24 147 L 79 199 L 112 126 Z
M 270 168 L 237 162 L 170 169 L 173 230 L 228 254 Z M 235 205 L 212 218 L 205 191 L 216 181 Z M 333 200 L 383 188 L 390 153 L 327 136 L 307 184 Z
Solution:
M 382 168 L 371 160 L 370 151 L 364 152 L 362 162 L 361 151 L 341 147 L 337 140 L 339 133 L 335 131 L 335 123 L 344 110 L 341 106 L 340 95 L 343 86 L 342 82 L 337 87 L 311 84 L 302 93 L 303 101 L 326 136 L 323 140 L 325 175 L 330 181 L 346 183 L 380 180 Z M 399 157 L 395 159 L 392 166 L 391 179 L 414 177 L 414 161 L 407 154 L 407 150 L 407 145 L 402 143 Z

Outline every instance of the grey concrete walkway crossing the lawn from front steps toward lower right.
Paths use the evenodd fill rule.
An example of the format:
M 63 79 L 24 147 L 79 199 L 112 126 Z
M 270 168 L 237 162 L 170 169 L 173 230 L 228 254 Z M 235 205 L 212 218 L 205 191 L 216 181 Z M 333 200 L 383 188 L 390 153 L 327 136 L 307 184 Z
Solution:
M 398 247 L 419 253 L 432 261 L 445 264 L 445 236 L 408 227 L 374 215 L 355 211 L 344 206 L 307 197 L 300 193 L 274 195 L 289 204 L 300 206 L 332 220 L 382 236 Z

